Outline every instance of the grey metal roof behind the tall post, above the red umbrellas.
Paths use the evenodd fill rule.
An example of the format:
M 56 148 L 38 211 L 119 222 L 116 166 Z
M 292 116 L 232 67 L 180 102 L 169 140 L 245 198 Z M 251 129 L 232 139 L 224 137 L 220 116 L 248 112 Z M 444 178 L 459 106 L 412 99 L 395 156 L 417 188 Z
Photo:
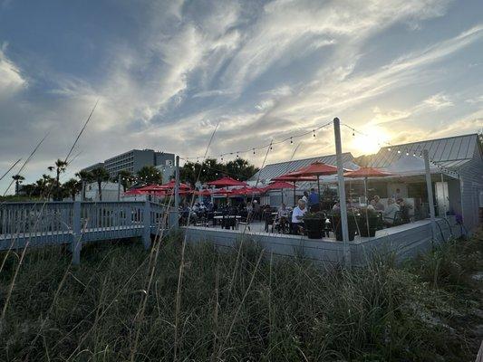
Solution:
M 295 171 L 301 167 L 308 166 L 315 161 L 324 162 L 327 165 L 336 165 L 335 155 L 285 161 L 277 164 L 266 165 L 266 167 L 263 167 L 254 176 L 252 176 L 250 180 L 255 181 L 258 178 L 258 175 L 260 175 L 260 180 L 270 180 L 276 176 L 281 176 L 286 174 L 287 172 Z M 343 162 L 352 161 L 353 155 L 350 152 L 343 153 Z

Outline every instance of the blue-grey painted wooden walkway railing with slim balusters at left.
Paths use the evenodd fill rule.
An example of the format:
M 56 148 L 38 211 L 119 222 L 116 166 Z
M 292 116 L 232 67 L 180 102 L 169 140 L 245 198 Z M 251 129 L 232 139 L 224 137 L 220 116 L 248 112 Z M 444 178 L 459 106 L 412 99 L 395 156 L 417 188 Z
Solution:
M 72 262 L 80 262 L 82 243 L 141 236 L 167 229 L 167 208 L 150 201 L 29 202 L 0 205 L 0 250 L 70 244 Z

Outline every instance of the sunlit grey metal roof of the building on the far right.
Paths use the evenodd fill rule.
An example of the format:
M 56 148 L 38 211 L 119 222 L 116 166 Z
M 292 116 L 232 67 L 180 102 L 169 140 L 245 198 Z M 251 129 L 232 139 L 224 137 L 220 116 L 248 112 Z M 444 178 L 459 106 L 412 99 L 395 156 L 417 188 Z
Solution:
M 474 157 L 477 145 L 478 135 L 476 133 L 430 139 L 381 148 L 377 154 L 368 157 L 368 163 L 371 167 L 388 167 L 404 155 L 420 156 L 422 150 L 427 149 L 432 162 L 441 167 L 456 169 Z

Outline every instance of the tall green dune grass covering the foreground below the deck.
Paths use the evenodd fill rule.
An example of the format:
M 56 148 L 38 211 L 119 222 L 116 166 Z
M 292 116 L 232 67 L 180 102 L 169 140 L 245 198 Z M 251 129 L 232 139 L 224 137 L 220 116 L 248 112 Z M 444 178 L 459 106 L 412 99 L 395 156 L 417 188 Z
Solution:
M 4 252 L 2 361 L 473 361 L 483 238 L 327 270 L 180 237 Z

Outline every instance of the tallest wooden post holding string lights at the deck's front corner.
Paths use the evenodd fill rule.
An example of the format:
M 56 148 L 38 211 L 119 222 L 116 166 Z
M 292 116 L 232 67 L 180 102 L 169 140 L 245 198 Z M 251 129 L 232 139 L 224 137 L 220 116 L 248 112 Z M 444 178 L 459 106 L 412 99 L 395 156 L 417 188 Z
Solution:
M 350 266 L 351 249 L 349 248 L 349 225 L 347 223 L 345 185 L 343 183 L 343 146 L 341 141 L 341 124 L 338 118 L 333 119 L 333 136 L 335 139 L 335 154 L 337 157 L 337 184 L 339 189 L 339 203 L 341 205 L 341 224 L 343 229 L 343 265 Z

